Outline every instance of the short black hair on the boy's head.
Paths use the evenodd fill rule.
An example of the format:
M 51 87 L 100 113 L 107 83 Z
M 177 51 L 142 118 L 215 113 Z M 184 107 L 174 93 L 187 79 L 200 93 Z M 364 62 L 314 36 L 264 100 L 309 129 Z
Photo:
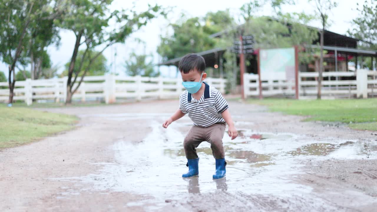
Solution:
M 178 68 L 179 71 L 184 74 L 195 70 L 202 73 L 205 69 L 205 61 L 204 58 L 198 54 L 187 54 L 182 57 L 181 61 L 179 61 Z

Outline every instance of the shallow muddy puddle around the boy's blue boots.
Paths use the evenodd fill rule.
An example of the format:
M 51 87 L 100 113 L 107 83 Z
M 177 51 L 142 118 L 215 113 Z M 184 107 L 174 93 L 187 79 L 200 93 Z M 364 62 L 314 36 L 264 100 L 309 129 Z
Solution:
M 200 158 L 199 176 L 182 178 L 181 175 L 187 172 L 187 160 L 182 146 L 185 132 L 189 129 L 187 122 L 184 120 L 174 123 L 168 129 L 164 129 L 158 121 L 151 121 L 152 132 L 147 134 L 143 141 L 129 142 L 126 138 L 119 138 L 110 146 L 114 152 L 113 163 L 97 164 L 97 173 L 59 180 L 77 181 L 78 185 L 89 184 L 90 189 L 103 192 L 111 190 L 152 196 L 152 200 L 132 204 L 143 205 L 153 202 L 155 207 L 162 207 L 167 199 L 181 199 L 185 194 L 214 191 L 230 194 L 273 194 L 289 198 L 291 194 L 307 195 L 312 192 L 310 186 L 297 184 L 293 180 L 294 176 L 302 174 L 299 171 L 299 167 L 302 166 L 300 161 L 325 160 L 329 157 L 365 158 L 377 155 L 373 150 L 377 149 L 377 143 L 336 138 L 318 142 L 304 135 L 241 129 L 239 137 L 235 140 L 230 140 L 227 132 L 224 135 L 227 160 L 225 178 L 212 179 L 215 159 L 207 142 L 201 143 L 197 148 Z M 80 192 L 80 186 L 70 188 L 70 191 L 76 194 Z M 70 195 L 70 192 L 58 197 L 64 198 L 67 195 Z M 314 198 L 313 201 L 323 200 Z

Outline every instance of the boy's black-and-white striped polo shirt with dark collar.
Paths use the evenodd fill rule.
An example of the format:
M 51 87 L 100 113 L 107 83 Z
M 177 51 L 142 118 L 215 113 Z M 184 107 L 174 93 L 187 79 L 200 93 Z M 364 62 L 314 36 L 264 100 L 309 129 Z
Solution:
M 179 109 L 188 113 L 196 126 L 208 127 L 212 124 L 225 122 L 221 113 L 228 108 L 228 103 L 221 93 L 214 87 L 205 84 L 205 89 L 200 100 L 184 91 L 179 96 Z

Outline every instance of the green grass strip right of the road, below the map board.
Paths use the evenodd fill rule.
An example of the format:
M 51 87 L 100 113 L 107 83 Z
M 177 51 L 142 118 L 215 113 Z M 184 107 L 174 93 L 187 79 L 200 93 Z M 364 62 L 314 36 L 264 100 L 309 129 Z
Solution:
M 265 99 L 248 102 L 267 105 L 273 112 L 308 116 L 305 121 L 342 122 L 353 129 L 377 131 L 377 99 Z

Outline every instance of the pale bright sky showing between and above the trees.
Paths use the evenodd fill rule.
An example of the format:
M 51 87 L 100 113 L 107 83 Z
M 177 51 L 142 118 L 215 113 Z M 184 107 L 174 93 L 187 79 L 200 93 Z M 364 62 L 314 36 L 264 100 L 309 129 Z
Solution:
M 104 56 L 107 58 L 107 66 L 113 73 L 125 75 L 124 63 L 129 58 L 129 54 L 135 51 L 137 54 L 152 54 L 153 61 L 157 64 L 161 58 L 156 52 L 157 46 L 160 43 L 160 35 L 171 34 L 172 29 L 169 28 L 169 22 L 175 23 L 181 18 L 181 14 L 186 17 L 202 17 L 207 12 L 216 12 L 218 10 L 230 9 L 230 12 L 236 19 L 239 17 L 239 8 L 247 0 L 232 0 L 232 1 L 219 1 L 219 0 L 190 0 L 190 1 L 176 1 L 176 0 L 138 0 L 135 1 L 135 9 L 137 11 L 144 11 L 148 3 L 151 5 L 158 4 L 164 7 L 172 7 L 172 12 L 168 18 L 156 18 L 141 28 L 139 31 L 133 33 L 127 38 L 125 43 L 118 43 L 104 51 Z M 363 5 L 364 0 L 338 0 L 338 7 L 333 9 L 329 14 L 331 25 L 328 27 L 329 31 L 339 34 L 346 34 L 348 29 L 352 28 L 352 19 L 359 16 L 356 10 L 357 3 Z M 130 8 L 132 1 L 114 0 L 111 5 L 112 9 Z M 315 9 L 313 4 L 308 3 L 307 0 L 299 0 L 297 5 L 285 5 L 282 7 L 282 12 L 305 12 L 307 14 L 314 14 Z M 273 15 L 273 11 L 269 7 L 264 7 L 257 12 L 256 15 Z M 310 23 L 311 26 L 320 27 L 319 21 Z M 62 30 L 60 32 L 61 42 L 60 46 L 48 47 L 48 53 L 51 57 L 53 65 L 60 67 L 59 73 L 64 70 L 64 65 L 70 60 L 74 48 L 75 35 L 72 32 Z M 145 42 L 141 44 L 135 41 L 139 38 Z M 98 49 L 97 49 L 98 50 Z M 1 58 L 0 58 L 1 59 Z M 8 65 L 0 62 L 0 71 L 4 71 L 8 77 Z M 174 66 L 160 67 L 162 76 L 175 77 L 176 68 Z

